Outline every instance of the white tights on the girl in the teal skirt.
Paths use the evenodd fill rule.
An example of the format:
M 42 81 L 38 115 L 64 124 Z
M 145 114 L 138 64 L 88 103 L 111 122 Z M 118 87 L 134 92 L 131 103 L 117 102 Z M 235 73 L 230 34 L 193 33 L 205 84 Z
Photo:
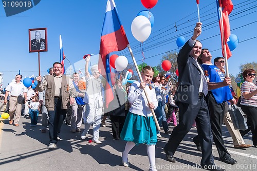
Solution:
M 131 149 L 135 145 L 136 144 L 134 142 L 127 141 L 124 152 L 122 153 L 122 160 L 124 162 L 127 162 L 128 153 L 130 153 Z M 156 170 L 156 167 L 155 167 L 155 145 L 146 145 L 146 151 L 147 151 L 148 158 L 149 158 L 150 169 L 152 171 L 155 171 Z

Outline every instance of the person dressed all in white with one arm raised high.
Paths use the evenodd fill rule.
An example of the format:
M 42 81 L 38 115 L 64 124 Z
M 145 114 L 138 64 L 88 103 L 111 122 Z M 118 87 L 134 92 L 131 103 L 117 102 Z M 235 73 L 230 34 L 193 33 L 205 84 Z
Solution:
M 86 58 L 85 65 L 85 79 L 86 79 L 86 93 L 83 101 L 86 103 L 86 110 L 83 114 L 84 116 L 84 124 L 85 130 L 81 134 L 81 138 L 84 140 L 86 138 L 86 134 L 90 129 L 90 125 L 93 123 L 93 141 L 97 144 L 101 144 L 99 141 L 99 130 L 101 124 L 101 116 L 103 109 L 103 97 L 102 97 L 102 84 L 99 78 L 100 72 L 98 70 L 97 65 L 91 67 L 91 74 L 88 72 L 88 63 L 90 60 L 90 56 L 88 55 Z

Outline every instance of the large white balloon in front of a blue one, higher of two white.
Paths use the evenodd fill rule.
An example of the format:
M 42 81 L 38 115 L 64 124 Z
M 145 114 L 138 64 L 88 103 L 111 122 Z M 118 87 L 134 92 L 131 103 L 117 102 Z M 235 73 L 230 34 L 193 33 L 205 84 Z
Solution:
M 131 24 L 131 32 L 133 36 L 140 42 L 148 39 L 152 31 L 151 23 L 148 18 L 139 15 L 133 19 Z

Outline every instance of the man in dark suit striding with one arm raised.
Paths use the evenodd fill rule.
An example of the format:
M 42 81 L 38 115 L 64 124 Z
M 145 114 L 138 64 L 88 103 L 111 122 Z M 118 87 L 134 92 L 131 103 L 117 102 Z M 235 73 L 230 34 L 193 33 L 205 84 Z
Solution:
M 179 77 L 174 99 L 179 108 L 179 124 L 174 127 L 164 152 L 168 161 L 176 162 L 173 155 L 195 120 L 202 149 L 201 167 L 208 170 L 225 170 L 215 166 L 212 156 L 211 124 L 205 98 L 208 94 L 207 79 L 203 68 L 197 62 L 202 45 L 196 38 L 201 34 L 201 25 L 196 24 L 193 36 L 182 47 L 177 57 Z

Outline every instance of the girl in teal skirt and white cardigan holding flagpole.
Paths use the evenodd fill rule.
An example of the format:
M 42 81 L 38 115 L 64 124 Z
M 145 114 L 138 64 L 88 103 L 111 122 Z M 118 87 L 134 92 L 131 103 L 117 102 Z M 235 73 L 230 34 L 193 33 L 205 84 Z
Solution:
M 155 167 L 155 144 L 157 142 L 156 125 L 151 109 L 156 109 L 158 102 L 154 89 L 150 89 L 151 80 L 153 79 L 154 69 L 146 66 L 142 69 L 141 76 L 143 82 L 134 82 L 128 93 L 128 102 L 131 103 L 130 111 L 127 114 L 122 132 L 121 139 L 127 141 L 124 152 L 122 153 L 122 164 L 125 167 L 130 166 L 128 163 L 128 153 L 136 144 L 146 144 L 146 151 L 150 162 L 149 170 L 156 170 Z M 148 103 L 143 89 L 148 93 L 152 102 Z M 152 88 L 152 87 L 151 87 Z

